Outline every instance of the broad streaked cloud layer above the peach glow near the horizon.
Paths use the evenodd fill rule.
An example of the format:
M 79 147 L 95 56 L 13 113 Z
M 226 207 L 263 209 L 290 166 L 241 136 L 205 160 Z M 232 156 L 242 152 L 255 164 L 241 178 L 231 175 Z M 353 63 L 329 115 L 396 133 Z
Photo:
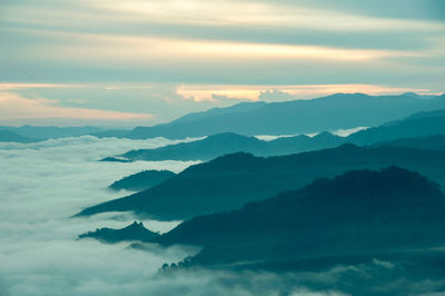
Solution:
M 8 1 L 0 80 L 384 83 L 439 91 L 444 21 L 405 17 L 399 1 L 378 3 Z M 435 3 L 403 6 L 427 16 L 437 13 Z

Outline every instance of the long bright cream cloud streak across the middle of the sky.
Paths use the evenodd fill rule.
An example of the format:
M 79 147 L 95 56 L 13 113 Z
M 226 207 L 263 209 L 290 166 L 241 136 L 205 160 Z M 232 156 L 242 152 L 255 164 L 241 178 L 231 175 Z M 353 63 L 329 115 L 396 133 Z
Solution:
M 151 65 L 156 61 L 185 60 L 293 60 L 368 62 L 394 57 L 425 57 L 427 52 L 390 49 L 352 49 L 313 45 L 271 45 L 231 40 L 168 38 L 157 36 L 123 36 L 90 32 L 58 32 L 42 29 L 14 29 L 18 33 L 52 38 L 55 43 L 36 45 L 33 56 L 51 61 L 115 65 Z M 445 29 L 444 29 L 445 31 Z M 51 56 L 47 52 L 51 48 Z M 147 50 L 150 49 L 150 50 Z

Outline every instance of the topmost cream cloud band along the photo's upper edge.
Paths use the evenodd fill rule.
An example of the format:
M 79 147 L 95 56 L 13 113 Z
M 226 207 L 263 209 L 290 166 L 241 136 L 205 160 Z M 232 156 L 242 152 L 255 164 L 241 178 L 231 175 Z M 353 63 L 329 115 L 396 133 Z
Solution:
M 42 9 L 36 9 L 37 13 L 18 8 L 20 12 L 36 16 L 44 13 L 44 4 L 49 6 L 55 1 L 42 1 Z M 349 1 L 350 2 L 350 1 Z M 380 1 L 382 2 L 382 1 Z M 389 1 L 390 2 L 390 1 Z M 387 2 L 385 2 L 387 4 Z M 393 1 L 393 3 L 396 3 Z M 382 4 L 383 6 L 383 4 Z M 350 7 L 360 8 L 349 9 Z M 196 24 L 196 26 L 233 26 L 238 27 L 279 27 L 283 29 L 325 29 L 329 31 L 348 30 L 432 30 L 441 29 L 441 23 L 434 19 L 405 18 L 404 14 L 384 16 L 384 13 L 357 13 L 366 12 L 377 6 L 357 6 L 350 3 L 329 4 L 327 1 L 295 2 L 295 1 L 233 1 L 218 0 L 206 2 L 204 0 L 168 0 L 168 1 L 95 1 L 77 2 L 71 4 L 73 11 L 61 11 L 61 16 L 79 16 L 79 12 L 88 21 L 98 20 L 98 22 L 113 19 L 119 22 L 132 23 L 160 23 L 160 24 Z M 413 7 L 413 6 L 411 6 Z M 414 6 L 423 8 L 426 6 Z M 56 8 L 59 8 L 56 6 Z M 66 8 L 61 6 L 60 8 Z M 383 9 L 380 9 L 383 11 Z M 395 10 L 393 10 L 395 11 Z M 32 14 L 33 13 L 33 14 Z M 20 14 L 19 14 L 20 16 Z M 17 18 L 17 17 L 16 17 Z M 44 23 L 51 23 L 51 19 L 41 20 Z M 68 23 L 67 20 L 59 20 L 61 23 Z M 356 24 L 352 27 L 350 24 Z M 72 24 L 71 24 L 72 26 Z

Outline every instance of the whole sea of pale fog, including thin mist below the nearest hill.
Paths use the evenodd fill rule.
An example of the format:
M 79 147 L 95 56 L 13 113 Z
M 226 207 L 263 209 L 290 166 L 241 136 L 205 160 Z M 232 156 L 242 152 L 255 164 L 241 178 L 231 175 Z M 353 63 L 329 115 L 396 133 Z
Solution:
M 179 262 L 197 249 L 151 246 L 147 251 L 128 248 L 129 243 L 77 240 L 81 233 L 99 227 L 120 228 L 134 221 L 132 215 L 119 213 L 69 218 L 86 206 L 128 194 L 107 190 L 112 181 L 144 169 L 178 172 L 194 164 L 97 160 L 171 142 L 161 138 L 83 136 L 28 145 L 0 144 L 0 296 L 347 295 L 338 292 L 342 285 L 353 279 L 366 283 L 374 274 L 385 275 L 385 270 L 394 268 L 390 263 L 375 260 L 323 273 L 159 273 L 164 263 Z M 160 233 L 178 223 L 144 220 L 147 228 Z M 322 288 L 315 289 L 313 283 Z

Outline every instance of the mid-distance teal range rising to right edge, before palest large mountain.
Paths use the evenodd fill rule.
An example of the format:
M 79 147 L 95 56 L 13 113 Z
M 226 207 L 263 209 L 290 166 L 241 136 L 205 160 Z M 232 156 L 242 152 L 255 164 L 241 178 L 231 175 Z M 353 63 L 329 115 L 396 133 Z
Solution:
M 180 142 L 155 149 L 131 150 L 116 158 L 118 160 L 110 157 L 102 160 L 210 160 L 221 155 L 238 151 L 256 156 L 276 156 L 333 148 L 345 142 L 382 146 L 383 144 L 379 142 L 388 145 L 390 140 L 398 138 L 416 138 L 431 135 L 445 135 L 445 110 L 415 114 L 400 120 L 354 132 L 347 137 L 339 137 L 324 131 L 314 137 L 298 135 L 265 141 L 256 137 L 226 132 L 190 142 Z M 414 141 L 412 142 L 414 144 Z M 405 141 L 404 146 L 408 146 L 408 144 L 409 141 Z M 432 144 L 431 147 L 433 146 Z

